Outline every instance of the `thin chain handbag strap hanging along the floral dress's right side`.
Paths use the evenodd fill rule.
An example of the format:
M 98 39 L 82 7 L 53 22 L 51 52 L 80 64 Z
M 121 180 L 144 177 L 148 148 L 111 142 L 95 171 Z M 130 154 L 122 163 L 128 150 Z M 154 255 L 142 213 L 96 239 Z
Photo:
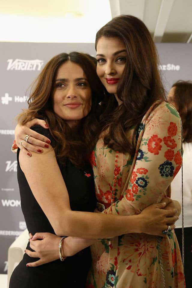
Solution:
M 181 155 L 183 157 L 183 128 L 182 128 L 182 122 L 181 118 L 180 123 L 181 123 Z M 182 162 L 182 167 L 181 167 L 181 174 L 182 174 L 182 264 L 183 264 L 183 288 L 185 287 L 184 284 L 184 214 L 183 214 L 183 162 Z M 158 255 L 159 255 L 159 262 L 161 266 L 161 274 L 162 274 L 162 279 L 163 279 L 163 288 L 166 288 L 166 283 L 165 283 L 165 273 L 164 273 L 164 266 L 163 266 L 163 258 L 162 258 L 162 253 L 161 253 L 161 236 L 156 237 L 157 241 L 157 247 L 158 247 Z

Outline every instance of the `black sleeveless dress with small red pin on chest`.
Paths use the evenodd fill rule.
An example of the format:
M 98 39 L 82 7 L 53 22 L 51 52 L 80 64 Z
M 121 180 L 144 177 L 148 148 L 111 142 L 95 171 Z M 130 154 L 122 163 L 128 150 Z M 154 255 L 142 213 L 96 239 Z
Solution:
M 42 128 L 40 125 L 34 126 L 32 130 L 48 137 L 51 143 L 54 142 L 49 130 Z M 32 235 L 36 232 L 54 233 L 19 166 L 19 150 L 17 152 L 17 179 L 21 208 L 27 229 Z M 67 161 L 65 166 L 58 161 L 58 165 L 67 186 L 71 210 L 93 212 L 96 206 L 96 198 L 91 166 L 86 165 L 82 170 L 79 170 L 70 161 Z M 26 249 L 33 251 L 29 247 L 29 243 Z M 27 263 L 37 260 L 38 258 L 31 258 L 24 254 L 23 259 L 11 275 L 9 288 L 85 287 L 87 273 L 91 265 L 89 247 L 74 256 L 67 257 L 64 262 L 58 259 L 38 267 L 26 267 Z

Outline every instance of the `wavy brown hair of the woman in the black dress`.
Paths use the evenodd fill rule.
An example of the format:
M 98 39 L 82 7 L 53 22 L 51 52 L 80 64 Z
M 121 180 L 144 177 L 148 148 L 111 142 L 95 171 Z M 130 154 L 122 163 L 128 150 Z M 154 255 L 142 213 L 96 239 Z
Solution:
M 78 64 L 84 71 L 91 87 L 91 110 L 79 125 L 70 128 L 69 125 L 53 111 L 52 92 L 58 68 L 67 61 Z M 39 118 L 49 125 L 49 131 L 55 140 L 52 146 L 57 158 L 62 163 L 66 159 L 76 167 L 84 166 L 87 156 L 91 153 L 98 139 L 99 102 L 104 90 L 96 73 L 96 64 L 88 55 L 79 52 L 61 53 L 53 57 L 41 71 L 32 84 L 29 108 L 18 115 L 17 121 L 24 125 L 28 121 Z

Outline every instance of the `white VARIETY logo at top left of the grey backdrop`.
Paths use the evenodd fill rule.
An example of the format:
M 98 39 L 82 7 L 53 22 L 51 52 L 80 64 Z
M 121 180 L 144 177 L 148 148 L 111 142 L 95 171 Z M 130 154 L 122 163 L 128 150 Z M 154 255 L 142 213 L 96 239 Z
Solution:
M 41 70 L 44 64 L 43 60 L 22 60 L 22 59 L 8 59 L 7 70 L 21 70 L 21 71 L 35 71 Z

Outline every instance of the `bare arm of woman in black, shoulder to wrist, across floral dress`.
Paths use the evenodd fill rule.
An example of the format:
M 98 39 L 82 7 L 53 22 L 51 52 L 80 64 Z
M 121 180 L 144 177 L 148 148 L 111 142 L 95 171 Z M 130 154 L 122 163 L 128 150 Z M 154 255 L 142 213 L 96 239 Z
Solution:
M 91 212 L 71 211 L 69 196 L 52 147 L 26 157 L 20 151 L 19 163 L 37 202 L 57 235 L 80 238 L 111 238 L 141 232 L 138 217 L 114 217 Z M 93 229 L 94 227 L 94 229 Z

